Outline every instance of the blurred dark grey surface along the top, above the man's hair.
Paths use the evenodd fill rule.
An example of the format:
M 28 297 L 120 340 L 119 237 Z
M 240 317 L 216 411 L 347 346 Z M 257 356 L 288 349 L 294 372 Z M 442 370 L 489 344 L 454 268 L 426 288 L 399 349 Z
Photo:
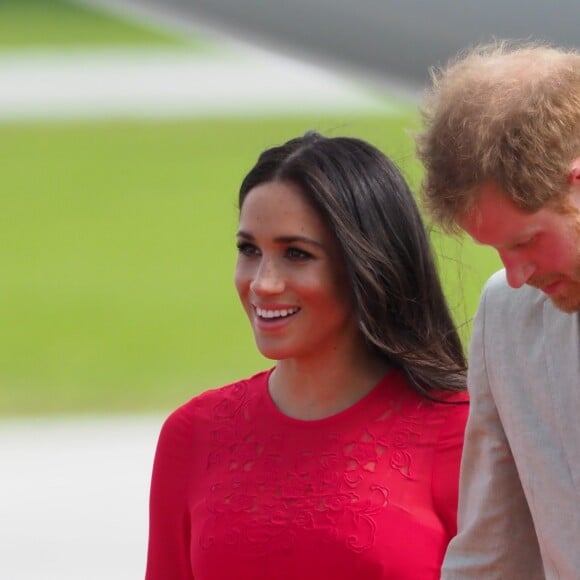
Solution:
M 421 87 L 430 67 L 497 38 L 578 48 L 578 0 L 82 0 L 186 30 L 200 21 L 240 38 L 340 64 L 379 83 Z M 567 17 L 567 15 L 571 15 Z

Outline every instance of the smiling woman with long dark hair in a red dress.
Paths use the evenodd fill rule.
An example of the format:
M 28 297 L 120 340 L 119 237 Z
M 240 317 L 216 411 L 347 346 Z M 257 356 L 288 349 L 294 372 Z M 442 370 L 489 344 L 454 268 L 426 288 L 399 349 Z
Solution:
M 259 157 L 239 208 L 236 289 L 276 363 L 167 419 L 147 580 L 439 578 L 465 360 L 408 186 L 308 133 Z

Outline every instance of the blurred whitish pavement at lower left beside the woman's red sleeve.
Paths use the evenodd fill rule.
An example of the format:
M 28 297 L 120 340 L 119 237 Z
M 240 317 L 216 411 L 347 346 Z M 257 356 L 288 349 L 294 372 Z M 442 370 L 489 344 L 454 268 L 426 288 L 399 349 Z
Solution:
M 0 421 L 0 578 L 143 578 L 162 420 Z

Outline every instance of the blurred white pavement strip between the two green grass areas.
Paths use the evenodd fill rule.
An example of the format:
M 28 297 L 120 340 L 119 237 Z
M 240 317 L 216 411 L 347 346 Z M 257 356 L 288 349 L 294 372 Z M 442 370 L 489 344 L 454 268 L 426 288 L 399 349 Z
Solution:
M 28 53 L 0 57 L 0 119 L 393 114 L 393 101 L 290 58 L 244 53 Z

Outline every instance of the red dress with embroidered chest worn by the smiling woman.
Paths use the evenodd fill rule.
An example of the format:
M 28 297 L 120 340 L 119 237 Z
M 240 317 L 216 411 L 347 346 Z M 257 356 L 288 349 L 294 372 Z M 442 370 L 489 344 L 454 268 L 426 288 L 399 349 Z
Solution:
M 353 407 L 300 421 L 275 407 L 268 375 L 165 422 L 146 579 L 438 579 L 468 405 L 426 400 L 391 371 Z

